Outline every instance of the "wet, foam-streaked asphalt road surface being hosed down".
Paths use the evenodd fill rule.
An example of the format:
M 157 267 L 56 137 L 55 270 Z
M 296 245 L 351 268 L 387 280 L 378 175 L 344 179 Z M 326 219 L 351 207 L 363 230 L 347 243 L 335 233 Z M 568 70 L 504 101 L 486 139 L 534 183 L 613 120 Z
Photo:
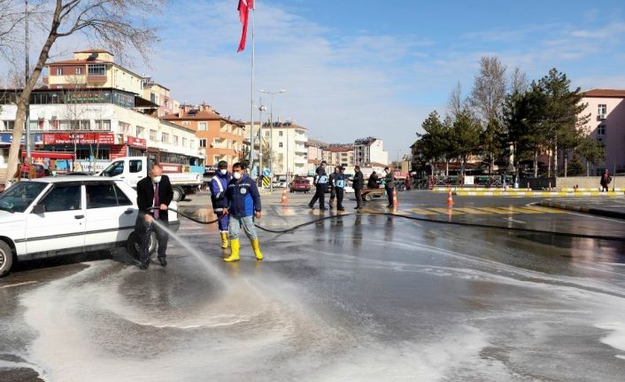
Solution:
M 356 213 L 348 195 L 337 214 L 280 196 L 259 225 L 313 223 L 259 230 L 265 261 L 242 240 L 224 263 L 216 227 L 181 218 L 166 269 L 121 249 L 19 264 L 0 280 L 0 380 L 622 380 L 625 221 L 540 199 L 450 210 L 406 191 Z

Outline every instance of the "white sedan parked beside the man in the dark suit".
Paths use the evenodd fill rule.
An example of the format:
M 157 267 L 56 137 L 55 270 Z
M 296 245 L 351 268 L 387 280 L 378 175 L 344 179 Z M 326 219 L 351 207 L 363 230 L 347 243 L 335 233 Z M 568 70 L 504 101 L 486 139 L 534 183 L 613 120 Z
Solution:
M 136 255 L 138 211 L 136 191 L 119 180 L 64 176 L 15 183 L 0 193 L 0 277 L 15 261 L 115 246 Z M 171 212 L 169 220 L 177 230 L 178 214 Z M 153 236 L 150 253 L 156 241 Z

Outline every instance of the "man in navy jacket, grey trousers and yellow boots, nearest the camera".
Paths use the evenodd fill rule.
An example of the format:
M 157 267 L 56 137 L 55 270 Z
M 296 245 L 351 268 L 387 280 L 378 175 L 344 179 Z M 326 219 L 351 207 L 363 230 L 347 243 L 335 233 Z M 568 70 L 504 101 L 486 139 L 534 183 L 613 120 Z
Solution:
M 254 217 L 260 219 L 261 215 L 260 193 L 258 193 L 256 182 L 243 172 L 241 163 L 232 165 L 232 179 L 228 183 L 226 199 L 228 200 L 228 207 L 224 208 L 224 211 L 226 214 L 229 214 L 230 218 L 230 255 L 224 261 L 239 260 L 239 233 L 242 228 L 250 239 L 256 259 L 263 260 L 263 253 L 260 252 L 258 244 L 256 227 L 254 227 Z

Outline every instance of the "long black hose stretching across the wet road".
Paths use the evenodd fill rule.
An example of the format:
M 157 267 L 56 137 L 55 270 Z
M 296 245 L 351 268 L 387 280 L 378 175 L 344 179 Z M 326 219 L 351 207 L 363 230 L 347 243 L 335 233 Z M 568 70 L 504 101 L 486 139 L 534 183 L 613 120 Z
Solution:
M 146 211 L 150 211 L 153 209 L 158 209 L 158 207 L 150 207 L 148 208 Z M 204 222 L 202 220 L 199 220 L 189 214 L 184 214 L 181 213 L 180 211 L 171 208 L 171 207 L 167 207 L 167 209 L 169 211 L 175 212 L 176 214 L 180 214 L 181 216 L 186 217 L 187 219 L 189 219 L 192 222 L 197 222 L 198 224 L 204 224 L 204 225 L 209 225 L 209 224 L 214 224 L 216 222 L 219 222 L 220 219 L 222 219 L 223 217 L 225 217 L 226 215 L 223 214 L 220 217 L 218 217 L 217 219 L 214 219 L 212 221 L 208 221 L 208 222 Z M 433 220 L 433 219 L 428 219 L 428 218 L 422 218 L 422 217 L 416 217 L 416 216 L 407 216 L 404 214 L 393 214 L 393 213 L 389 213 L 389 212 L 367 212 L 367 213 L 358 213 L 358 214 L 374 214 L 374 215 L 381 215 L 381 216 L 392 216 L 392 217 L 400 217 L 400 218 L 404 218 L 404 219 L 408 219 L 408 220 L 412 220 L 412 221 L 417 221 L 417 222 L 432 222 L 432 223 L 437 223 L 437 224 L 452 224 L 452 225 L 459 225 L 459 226 L 463 226 L 463 227 L 476 227 L 476 228 L 487 228 L 487 229 L 495 229 L 495 230 L 508 230 L 508 231 L 518 231 L 518 232 L 526 232 L 526 233 L 532 233 L 532 234 L 541 234 L 541 235 L 554 235 L 554 236 L 560 236 L 560 237 L 565 237 L 565 238 L 591 238 L 591 239 L 595 239 L 595 240 L 607 240 L 607 241 L 625 241 L 625 238 L 620 238 L 620 237 L 616 237 L 616 236 L 606 236 L 606 235 L 590 235 L 590 234 L 583 234 L 583 233 L 571 233 L 571 232 L 559 232 L 559 231 L 553 231 L 553 230 L 532 230 L 529 228 L 519 228 L 519 227 L 502 227 L 502 226 L 498 226 L 498 225 L 490 225 L 490 224 L 481 224 L 481 223 L 476 223 L 476 222 L 449 222 L 449 221 L 442 221 L 442 220 Z M 266 227 L 263 227 L 261 225 L 258 224 L 254 224 L 256 226 L 256 228 L 258 228 L 258 230 L 264 230 L 266 232 L 269 233 L 275 233 L 275 234 L 283 234 L 283 233 L 289 233 L 289 232 L 293 232 L 295 230 L 298 230 L 302 227 L 308 226 L 308 225 L 312 225 L 314 223 L 317 222 L 323 222 L 326 220 L 330 220 L 330 219 L 338 219 L 338 218 L 343 218 L 343 216 L 350 216 L 350 215 L 354 215 L 354 214 L 332 214 L 332 215 L 328 215 L 328 216 L 323 216 L 320 217 L 319 219 L 315 219 L 311 222 L 304 222 L 301 224 L 297 224 L 293 227 L 289 227 L 287 229 L 282 229 L 282 230 L 272 230 Z

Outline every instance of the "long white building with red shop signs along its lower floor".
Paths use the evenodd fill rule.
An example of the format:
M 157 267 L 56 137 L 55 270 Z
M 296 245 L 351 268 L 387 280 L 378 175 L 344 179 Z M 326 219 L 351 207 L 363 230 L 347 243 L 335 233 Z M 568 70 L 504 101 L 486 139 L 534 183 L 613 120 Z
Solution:
M 20 91 L 0 92 L 0 168 L 6 167 Z M 101 170 L 126 155 L 199 165 L 195 132 L 158 119 L 147 106 L 143 97 L 112 88 L 34 90 L 29 114 L 34 159 L 42 164 L 75 159 L 58 161 L 59 170 Z

